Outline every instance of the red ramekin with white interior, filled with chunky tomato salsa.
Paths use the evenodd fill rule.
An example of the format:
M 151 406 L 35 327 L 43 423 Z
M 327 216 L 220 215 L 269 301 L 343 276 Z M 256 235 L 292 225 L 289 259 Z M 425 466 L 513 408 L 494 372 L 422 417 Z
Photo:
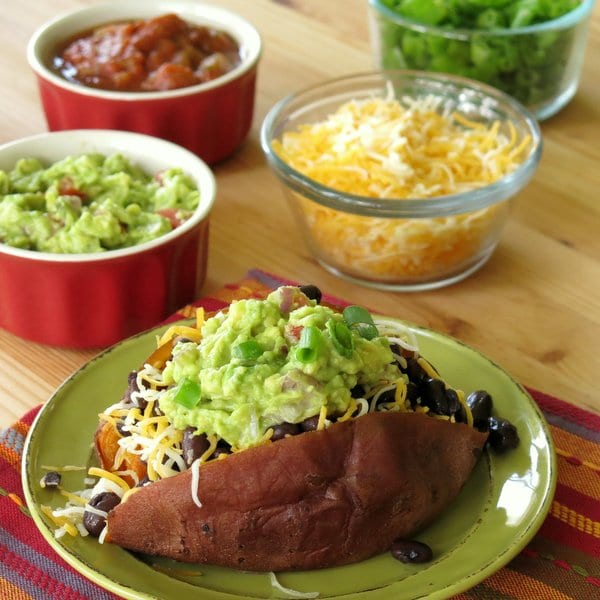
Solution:
M 51 131 L 136 131 L 214 164 L 248 134 L 261 51 L 256 29 L 226 9 L 130 0 L 56 17 L 27 56 Z

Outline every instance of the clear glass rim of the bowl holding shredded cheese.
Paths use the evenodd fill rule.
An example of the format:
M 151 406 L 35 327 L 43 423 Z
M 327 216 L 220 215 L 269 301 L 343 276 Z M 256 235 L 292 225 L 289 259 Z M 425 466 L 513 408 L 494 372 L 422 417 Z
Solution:
M 531 135 L 531 150 L 527 158 L 512 173 L 505 175 L 494 183 L 468 192 L 437 196 L 434 198 L 372 198 L 357 196 L 335 190 L 318 183 L 299 171 L 290 167 L 273 150 L 271 142 L 280 124 L 281 114 L 290 104 L 300 102 L 319 90 L 333 92 L 339 85 L 362 82 L 385 82 L 388 79 L 429 80 L 451 84 L 457 89 L 469 89 L 479 94 L 490 96 L 501 106 L 510 107 L 520 115 Z M 358 89 L 358 88 L 357 88 Z M 326 96 L 322 97 L 323 100 Z M 542 134 L 533 114 L 520 102 L 508 94 L 486 84 L 443 73 L 411 71 L 411 70 L 378 70 L 354 75 L 346 75 L 329 79 L 321 83 L 303 88 L 277 102 L 267 113 L 260 130 L 260 142 L 268 163 L 282 182 L 295 192 L 321 205 L 335 210 L 349 212 L 361 216 L 378 218 L 438 218 L 473 212 L 487 208 L 514 196 L 531 179 L 537 168 L 542 153 Z

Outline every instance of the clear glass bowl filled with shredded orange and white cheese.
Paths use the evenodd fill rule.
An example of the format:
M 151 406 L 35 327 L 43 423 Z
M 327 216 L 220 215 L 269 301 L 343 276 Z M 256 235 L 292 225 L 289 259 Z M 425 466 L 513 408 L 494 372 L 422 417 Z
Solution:
M 493 253 L 538 165 L 535 117 L 458 76 L 377 71 L 288 96 L 261 129 L 316 259 L 397 291 L 464 279 Z

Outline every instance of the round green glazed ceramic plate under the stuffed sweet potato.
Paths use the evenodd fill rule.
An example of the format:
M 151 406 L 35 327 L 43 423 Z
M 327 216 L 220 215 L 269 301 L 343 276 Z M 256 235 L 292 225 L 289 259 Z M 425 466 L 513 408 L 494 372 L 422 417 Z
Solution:
M 412 326 L 411 326 L 412 327 Z M 519 430 L 519 447 L 485 455 L 455 502 L 418 536 L 435 560 L 407 566 L 383 554 L 359 564 L 310 572 L 281 573 L 279 582 L 320 598 L 352 600 L 447 598 L 482 581 L 528 543 L 552 500 L 556 465 L 552 441 L 538 407 L 525 390 L 472 348 L 439 333 L 413 327 L 422 354 L 453 386 L 488 390 L 496 411 Z M 43 490 L 42 465 L 87 465 L 98 413 L 118 400 L 127 374 L 155 345 L 157 331 L 128 339 L 77 371 L 50 398 L 31 428 L 23 456 L 27 504 L 43 536 L 68 563 L 100 586 L 125 598 L 233 600 L 289 597 L 269 577 L 211 566 L 190 567 L 139 558 L 89 537 L 56 540 L 40 505 L 61 504 Z M 84 472 L 63 476 L 67 489 L 82 489 Z M 277 548 L 273 548 L 277 552 Z

